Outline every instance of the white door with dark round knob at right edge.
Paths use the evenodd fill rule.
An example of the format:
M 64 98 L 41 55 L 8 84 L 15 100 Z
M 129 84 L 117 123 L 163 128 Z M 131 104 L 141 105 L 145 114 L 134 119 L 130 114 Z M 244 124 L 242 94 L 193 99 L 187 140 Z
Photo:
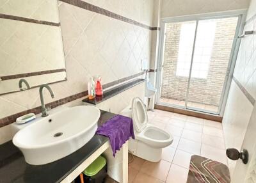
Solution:
M 252 116 L 248 124 L 242 149 L 248 150 L 249 161 L 243 164 L 241 159 L 237 160 L 236 168 L 231 177 L 232 183 L 256 182 L 256 105 L 253 108 Z

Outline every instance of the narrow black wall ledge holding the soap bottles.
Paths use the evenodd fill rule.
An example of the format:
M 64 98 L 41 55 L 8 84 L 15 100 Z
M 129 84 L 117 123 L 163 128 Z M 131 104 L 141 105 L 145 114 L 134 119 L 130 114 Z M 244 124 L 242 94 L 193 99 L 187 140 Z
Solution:
M 101 97 L 96 96 L 95 99 L 92 99 L 92 100 L 89 100 L 89 98 L 86 98 L 82 101 L 89 103 L 89 104 L 96 105 L 96 104 L 99 104 L 100 102 L 103 102 L 104 100 L 107 100 L 107 99 L 117 95 L 118 93 L 124 92 L 125 90 L 128 90 L 129 88 L 132 88 L 133 86 L 136 86 L 137 84 L 140 84 L 144 81 L 145 81 L 145 79 L 135 79 L 128 83 L 120 84 L 119 86 L 115 86 L 114 88 L 104 91 L 103 96 L 101 96 Z

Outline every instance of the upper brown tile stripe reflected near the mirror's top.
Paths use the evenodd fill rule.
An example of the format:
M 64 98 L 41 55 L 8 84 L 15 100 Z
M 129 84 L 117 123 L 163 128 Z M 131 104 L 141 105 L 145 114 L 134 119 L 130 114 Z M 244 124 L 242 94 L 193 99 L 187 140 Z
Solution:
M 54 23 L 54 22 L 48 22 L 48 21 L 44 21 L 44 20 L 35 20 L 35 19 L 29 19 L 29 18 L 25 18 L 25 17 L 18 17 L 18 16 L 14 16 L 14 15 L 6 15 L 3 13 L 0 13 L 0 18 L 1 19 L 9 19 L 9 20 L 18 20 L 18 21 L 22 21 L 22 22 L 29 22 L 29 23 L 35 23 L 35 24 L 43 24 L 43 25 L 47 25 L 47 26 L 60 26 L 60 22 L 59 23 Z

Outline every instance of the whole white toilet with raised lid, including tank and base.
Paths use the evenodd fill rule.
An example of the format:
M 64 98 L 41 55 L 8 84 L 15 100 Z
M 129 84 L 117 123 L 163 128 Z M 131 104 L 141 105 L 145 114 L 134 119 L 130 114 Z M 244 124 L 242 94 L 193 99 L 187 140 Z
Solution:
M 148 123 L 143 101 L 134 98 L 131 107 L 126 107 L 120 115 L 131 117 L 133 121 L 135 139 L 129 139 L 129 152 L 147 161 L 160 161 L 162 148 L 172 144 L 173 137 L 169 132 Z

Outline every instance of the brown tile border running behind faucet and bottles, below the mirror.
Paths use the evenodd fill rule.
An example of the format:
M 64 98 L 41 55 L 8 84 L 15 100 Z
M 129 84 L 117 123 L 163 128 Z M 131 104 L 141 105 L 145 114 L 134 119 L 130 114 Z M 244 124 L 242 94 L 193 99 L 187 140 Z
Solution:
M 113 86 L 115 84 L 122 83 L 124 81 L 128 81 L 129 79 L 132 79 L 134 77 L 141 76 L 143 74 L 144 74 L 144 72 L 140 72 L 140 73 L 134 74 L 132 76 L 124 77 L 122 79 L 118 79 L 118 80 L 113 81 L 111 83 L 103 84 L 102 87 L 103 88 L 108 88 L 108 87 Z M 55 108 L 55 107 L 61 106 L 63 104 L 66 104 L 68 102 L 72 102 L 73 100 L 77 100 L 77 99 L 81 99 L 83 97 L 86 97 L 87 95 L 88 95 L 88 91 L 86 90 L 84 92 L 76 93 L 74 95 L 70 95 L 70 96 L 65 97 L 63 99 L 56 100 L 54 102 L 50 102 L 50 103 L 46 104 L 45 106 L 51 106 L 51 108 Z M 0 119 L 0 127 L 10 125 L 11 123 L 16 121 L 16 118 L 19 118 L 19 116 L 26 115 L 28 113 L 35 113 L 35 114 L 41 113 L 41 106 L 35 107 L 33 109 L 28 109 L 26 111 L 22 111 L 20 113 L 14 114 L 14 115 L 10 115 L 10 116 L 6 116 L 4 118 L 1 118 Z

